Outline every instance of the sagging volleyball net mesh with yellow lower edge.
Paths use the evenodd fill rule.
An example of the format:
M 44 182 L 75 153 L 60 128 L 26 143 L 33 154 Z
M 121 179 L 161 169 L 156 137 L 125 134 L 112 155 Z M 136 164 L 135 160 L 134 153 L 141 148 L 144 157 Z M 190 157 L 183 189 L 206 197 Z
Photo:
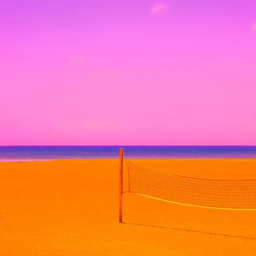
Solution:
M 256 179 L 217 180 L 162 172 L 127 160 L 129 192 L 177 204 L 256 210 Z

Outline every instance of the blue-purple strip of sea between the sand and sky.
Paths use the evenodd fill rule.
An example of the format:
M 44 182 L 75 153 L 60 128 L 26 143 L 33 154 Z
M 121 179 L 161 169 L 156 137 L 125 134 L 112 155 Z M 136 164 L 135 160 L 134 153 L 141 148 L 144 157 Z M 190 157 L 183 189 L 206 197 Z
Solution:
M 0 162 L 56 159 L 256 158 L 256 146 L 0 146 Z

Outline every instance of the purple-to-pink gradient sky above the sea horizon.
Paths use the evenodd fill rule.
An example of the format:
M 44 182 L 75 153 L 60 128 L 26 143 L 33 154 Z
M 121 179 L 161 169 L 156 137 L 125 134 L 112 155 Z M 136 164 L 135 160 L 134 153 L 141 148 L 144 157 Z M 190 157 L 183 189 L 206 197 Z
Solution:
M 256 1 L 2 1 L 0 145 L 256 145 Z

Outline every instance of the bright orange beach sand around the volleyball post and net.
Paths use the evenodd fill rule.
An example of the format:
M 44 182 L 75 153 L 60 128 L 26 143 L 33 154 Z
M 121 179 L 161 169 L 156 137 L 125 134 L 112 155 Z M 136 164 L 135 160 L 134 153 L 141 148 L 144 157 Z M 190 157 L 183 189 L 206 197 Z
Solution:
M 133 161 L 196 177 L 256 177 L 256 159 Z M 118 160 L 0 163 L 0 255 L 256 255 L 256 211 L 124 193 L 119 224 L 118 206 Z

